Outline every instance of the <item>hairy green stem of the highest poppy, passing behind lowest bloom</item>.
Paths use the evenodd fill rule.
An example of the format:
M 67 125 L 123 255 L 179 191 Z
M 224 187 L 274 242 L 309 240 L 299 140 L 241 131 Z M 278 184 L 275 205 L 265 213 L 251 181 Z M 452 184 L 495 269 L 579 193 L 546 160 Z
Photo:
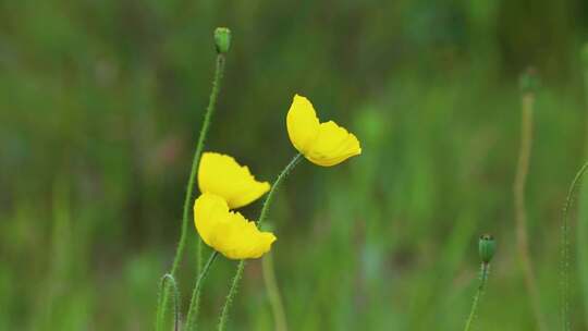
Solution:
M 261 207 L 261 212 L 259 213 L 259 219 L 257 220 L 257 226 L 260 226 L 264 220 L 268 217 L 269 207 L 271 205 L 271 201 L 273 199 L 273 195 L 278 187 L 280 187 L 280 184 L 285 180 L 285 177 L 290 174 L 292 169 L 298 164 L 298 162 L 302 160 L 303 155 L 297 154 L 291 161 L 287 163 L 287 166 L 282 170 L 282 172 L 278 175 L 275 179 L 275 182 L 273 182 L 273 185 L 271 185 L 271 189 L 268 193 L 268 196 L 266 197 L 266 201 L 264 203 L 264 207 Z M 237 270 L 235 272 L 235 277 L 233 278 L 233 281 L 231 283 L 231 289 L 229 290 L 229 295 L 226 295 L 226 299 L 224 302 L 224 305 L 222 307 L 222 311 L 219 318 L 219 326 L 218 330 L 222 331 L 226 327 L 226 319 L 229 316 L 229 309 L 231 308 L 231 304 L 233 303 L 233 298 L 236 294 L 238 283 L 241 281 L 241 278 L 243 277 L 243 270 L 245 269 L 245 260 L 241 260 L 237 266 Z

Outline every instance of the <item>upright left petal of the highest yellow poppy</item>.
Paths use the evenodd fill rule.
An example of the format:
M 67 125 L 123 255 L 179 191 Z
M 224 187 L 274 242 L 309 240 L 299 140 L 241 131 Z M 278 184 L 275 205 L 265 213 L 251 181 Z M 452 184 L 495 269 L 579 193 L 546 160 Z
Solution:
M 319 132 L 319 120 L 313 103 L 295 95 L 286 117 L 287 134 L 292 145 L 305 154 L 315 142 Z

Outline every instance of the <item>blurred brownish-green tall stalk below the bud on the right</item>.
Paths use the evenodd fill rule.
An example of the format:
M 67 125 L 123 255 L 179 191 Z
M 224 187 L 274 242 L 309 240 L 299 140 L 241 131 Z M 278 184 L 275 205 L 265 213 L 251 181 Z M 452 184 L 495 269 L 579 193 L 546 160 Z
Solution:
M 530 79 L 529 77 L 523 79 Z M 525 87 L 524 87 L 525 88 Z M 527 233 L 527 210 L 525 207 L 525 186 L 529 172 L 529 159 L 532 147 L 532 114 L 535 106 L 535 91 L 525 88 L 522 99 L 520 118 L 520 149 L 513 185 L 515 221 L 516 221 L 516 247 L 520 258 L 525 286 L 529 294 L 530 305 L 535 315 L 538 330 L 547 330 L 544 317 L 541 314 L 539 290 L 529 254 L 529 240 Z

